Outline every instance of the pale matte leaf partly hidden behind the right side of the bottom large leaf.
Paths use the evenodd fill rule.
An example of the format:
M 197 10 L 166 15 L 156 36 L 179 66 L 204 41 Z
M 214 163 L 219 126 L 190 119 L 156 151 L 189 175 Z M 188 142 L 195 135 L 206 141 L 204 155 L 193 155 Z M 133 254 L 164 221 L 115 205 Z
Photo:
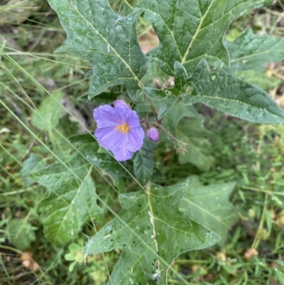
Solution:
M 187 190 L 180 202 L 180 210 L 190 219 L 214 230 L 222 242 L 228 230 L 237 220 L 236 209 L 229 202 L 229 196 L 236 183 L 202 185 L 197 176 L 186 180 Z

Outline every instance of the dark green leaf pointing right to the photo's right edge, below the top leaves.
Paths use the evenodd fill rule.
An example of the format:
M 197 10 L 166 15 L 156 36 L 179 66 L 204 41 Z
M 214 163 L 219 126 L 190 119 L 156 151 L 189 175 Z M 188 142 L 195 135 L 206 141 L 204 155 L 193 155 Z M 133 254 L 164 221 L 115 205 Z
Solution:
M 202 102 L 231 116 L 260 124 L 283 124 L 284 111 L 260 88 L 217 69 L 209 72 L 202 60 L 187 80 L 190 95 L 184 104 Z

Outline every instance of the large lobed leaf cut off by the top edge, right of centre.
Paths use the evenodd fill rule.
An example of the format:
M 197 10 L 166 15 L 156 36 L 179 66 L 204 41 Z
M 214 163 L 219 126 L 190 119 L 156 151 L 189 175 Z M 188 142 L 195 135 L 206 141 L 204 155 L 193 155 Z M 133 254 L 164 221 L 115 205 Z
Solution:
M 170 75 L 179 61 L 190 74 L 202 58 L 219 68 L 229 67 L 223 38 L 229 24 L 242 14 L 271 0 L 141 0 L 143 9 L 160 43 L 147 55 Z

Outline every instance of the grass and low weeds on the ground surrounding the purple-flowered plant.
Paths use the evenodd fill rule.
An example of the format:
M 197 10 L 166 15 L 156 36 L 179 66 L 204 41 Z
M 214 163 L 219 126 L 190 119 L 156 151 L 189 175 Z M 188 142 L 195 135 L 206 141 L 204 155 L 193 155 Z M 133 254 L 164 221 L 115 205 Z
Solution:
M 123 16 L 134 1 L 110 3 Z M 84 75 L 89 63 L 53 53 L 65 41 L 65 32 L 47 1 L 2 0 L 0 5 L 0 284 L 106 284 L 120 252 L 97 255 L 70 268 L 76 244 L 87 237 L 80 234 L 64 246 L 48 242 L 39 210 L 48 192 L 26 171 L 28 163 L 38 159 L 31 158 L 31 152 L 44 158 L 40 163 L 45 165 L 54 162 L 50 149 L 64 160 L 69 147 L 65 138 L 94 131 L 95 106 L 77 100 L 88 92 Z M 248 26 L 258 35 L 284 36 L 284 2 L 277 0 L 242 16 L 229 28 L 227 39 L 233 41 Z M 156 44 L 143 19 L 138 34 L 143 48 Z M 261 86 L 282 106 L 283 62 L 269 65 L 262 74 L 240 76 Z M 61 105 L 49 102 L 48 92 L 54 92 Z M 174 149 L 158 144 L 154 160 L 161 173 L 154 181 L 172 185 L 191 174 L 198 174 L 205 185 L 236 181 L 231 203 L 239 220 L 224 244 L 182 254 L 173 268 L 187 284 L 283 285 L 284 127 L 251 124 L 202 105 L 197 109 L 209 130 L 214 165 L 204 172 L 190 164 L 181 166 Z M 35 110 L 49 118 L 49 127 L 42 126 Z M 102 174 L 94 179 L 99 196 L 118 213 L 117 193 Z M 126 179 L 131 190 L 133 181 Z M 107 222 L 112 215 L 104 210 Z M 82 232 L 95 233 L 91 223 Z M 169 284 L 181 282 L 169 274 Z

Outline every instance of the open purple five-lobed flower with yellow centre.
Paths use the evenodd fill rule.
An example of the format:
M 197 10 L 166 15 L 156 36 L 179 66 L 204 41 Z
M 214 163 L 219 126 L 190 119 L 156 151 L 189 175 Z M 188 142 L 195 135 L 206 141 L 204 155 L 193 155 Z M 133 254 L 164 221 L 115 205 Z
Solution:
M 114 107 L 103 105 L 94 109 L 97 129 L 94 136 L 99 146 L 112 151 L 117 161 L 126 161 L 143 146 L 144 131 L 135 111 L 122 100 Z

